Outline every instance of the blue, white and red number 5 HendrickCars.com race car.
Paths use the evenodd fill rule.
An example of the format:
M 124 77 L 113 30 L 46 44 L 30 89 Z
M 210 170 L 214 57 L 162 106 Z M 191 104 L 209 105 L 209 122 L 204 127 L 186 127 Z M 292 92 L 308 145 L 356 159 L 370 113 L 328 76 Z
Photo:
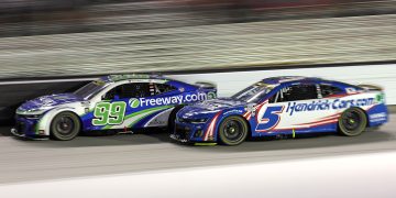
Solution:
M 170 138 L 194 144 L 238 145 L 250 138 L 296 138 L 304 133 L 361 134 L 387 122 L 384 92 L 311 77 L 265 78 L 230 98 L 186 106 Z

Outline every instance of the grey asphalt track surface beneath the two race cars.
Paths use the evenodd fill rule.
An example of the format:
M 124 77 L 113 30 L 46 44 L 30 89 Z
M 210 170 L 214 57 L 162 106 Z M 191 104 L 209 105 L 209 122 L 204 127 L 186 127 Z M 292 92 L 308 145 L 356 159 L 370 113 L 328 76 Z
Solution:
M 1 127 L 0 184 L 396 151 L 395 118 L 391 116 L 389 123 L 355 138 L 297 136 L 248 141 L 239 146 L 180 145 L 164 132 L 78 136 L 68 142 L 23 141 L 10 135 L 11 127 Z

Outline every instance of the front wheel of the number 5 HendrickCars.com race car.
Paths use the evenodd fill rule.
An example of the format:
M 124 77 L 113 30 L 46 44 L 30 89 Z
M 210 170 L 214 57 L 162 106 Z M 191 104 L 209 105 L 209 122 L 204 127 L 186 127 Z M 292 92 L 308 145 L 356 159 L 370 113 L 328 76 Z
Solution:
M 226 145 L 239 145 L 246 140 L 249 127 L 246 121 L 238 116 L 226 118 L 219 127 L 219 139 Z

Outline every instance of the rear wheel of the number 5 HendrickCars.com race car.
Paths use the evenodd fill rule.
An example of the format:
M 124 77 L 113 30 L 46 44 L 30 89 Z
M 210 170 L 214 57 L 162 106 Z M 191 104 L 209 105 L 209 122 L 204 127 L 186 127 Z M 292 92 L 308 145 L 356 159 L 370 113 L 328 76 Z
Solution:
M 362 109 L 350 108 L 339 119 L 340 133 L 346 136 L 360 135 L 367 125 L 367 116 Z

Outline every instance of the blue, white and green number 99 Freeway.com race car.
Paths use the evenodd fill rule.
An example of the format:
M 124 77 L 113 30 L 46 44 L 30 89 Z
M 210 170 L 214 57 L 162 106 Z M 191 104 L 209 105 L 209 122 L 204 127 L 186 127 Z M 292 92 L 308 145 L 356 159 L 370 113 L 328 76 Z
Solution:
M 16 109 L 14 135 L 68 141 L 81 131 L 173 128 L 182 105 L 216 98 L 208 82 L 189 85 L 158 75 L 110 75 L 72 94 L 43 96 Z

